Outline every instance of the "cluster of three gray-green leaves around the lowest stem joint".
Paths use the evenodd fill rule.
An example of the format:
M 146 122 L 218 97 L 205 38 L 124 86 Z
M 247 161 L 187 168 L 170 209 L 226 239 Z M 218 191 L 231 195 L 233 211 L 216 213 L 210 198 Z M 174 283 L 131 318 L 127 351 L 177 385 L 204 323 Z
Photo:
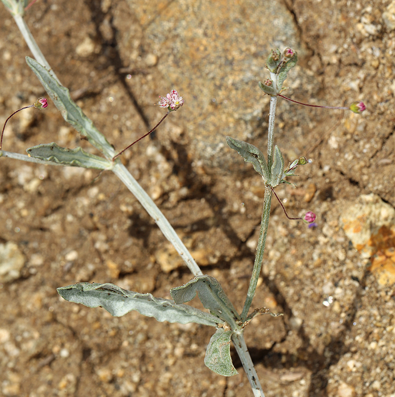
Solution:
M 231 325 L 225 331 L 218 328 L 207 346 L 204 363 L 212 371 L 223 376 L 237 374 L 231 358 L 231 337 L 241 328 L 240 316 L 225 294 L 221 284 L 208 275 L 197 276 L 180 287 L 172 288 L 174 301 L 155 298 L 151 294 L 140 294 L 117 287 L 114 284 L 81 282 L 58 288 L 58 293 L 66 300 L 81 303 L 87 307 L 103 307 L 112 316 L 124 316 L 132 310 L 158 321 L 170 323 L 197 323 L 218 328 L 224 323 Z M 198 294 L 210 313 L 184 305 Z

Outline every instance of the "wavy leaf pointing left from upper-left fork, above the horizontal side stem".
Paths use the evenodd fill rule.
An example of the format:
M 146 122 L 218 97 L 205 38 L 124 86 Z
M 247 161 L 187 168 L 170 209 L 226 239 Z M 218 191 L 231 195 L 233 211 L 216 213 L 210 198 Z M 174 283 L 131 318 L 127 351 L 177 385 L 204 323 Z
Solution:
M 44 161 L 54 161 L 58 164 L 74 167 L 94 168 L 106 170 L 111 168 L 112 162 L 103 157 L 85 152 L 81 147 L 69 149 L 61 147 L 55 142 L 29 147 L 26 152 L 34 158 Z

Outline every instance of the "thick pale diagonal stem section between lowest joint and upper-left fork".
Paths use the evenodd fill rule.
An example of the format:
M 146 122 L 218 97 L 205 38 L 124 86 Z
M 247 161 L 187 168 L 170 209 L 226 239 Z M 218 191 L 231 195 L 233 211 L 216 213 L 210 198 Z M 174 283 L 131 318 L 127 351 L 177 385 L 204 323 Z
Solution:
M 119 162 L 114 164 L 112 172 L 126 185 L 136 199 L 140 201 L 150 216 L 155 220 L 164 237 L 166 237 L 166 239 L 173 244 L 174 248 L 185 262 L 185 265 L 189 267 L 189 270 L 191 270 L 193 275 L 202 275 L 202 270 L 200 270 L 200 267 L 196 264 L 195 260 L 192 258 L 192 255 L 186 249 L 181 239 L 177 236 L 177 233 L 172 228 L 169 221 L 161 213 L 160 209 L 157 207 L 151 197 L 132 177 L 130 172 Z

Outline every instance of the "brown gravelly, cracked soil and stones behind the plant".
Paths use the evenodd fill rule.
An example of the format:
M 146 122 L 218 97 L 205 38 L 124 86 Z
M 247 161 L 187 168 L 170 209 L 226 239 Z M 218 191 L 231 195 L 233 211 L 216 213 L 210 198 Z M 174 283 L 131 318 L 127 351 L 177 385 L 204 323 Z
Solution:
M 0 7 L 0 121 L 45 92 Z M 244 303 L 263 185 L 225 136 L 265 152 L 271 48 L 298 65 L 279 100 L 275 143 L 310 165 L 279 187 L 245 332 L 266 396 L 395 396 L 395 1 L 38 1 L 26 21 L 83 112 L 121 149 L 163 115 L 159 95 L 185 105 L 124 155 L 203 271 L 237 310 Z M 50 102 L 10 120 L 3 149 L 88 142 Z M 96 178 L 98 177 L 98 178 Z M 113 282 L 170 298 L 191 278 L 155 222 L 110 172 L 0 159 L 0 394 L 3 396 L 252 396 L 243 369 L 204 366 L 212 329 L 111 317 L 64 301 L 56 288 Z M 7 267 L 8 266 L 8 267 Z M 198 303 L 196 303 L 198 304 Z

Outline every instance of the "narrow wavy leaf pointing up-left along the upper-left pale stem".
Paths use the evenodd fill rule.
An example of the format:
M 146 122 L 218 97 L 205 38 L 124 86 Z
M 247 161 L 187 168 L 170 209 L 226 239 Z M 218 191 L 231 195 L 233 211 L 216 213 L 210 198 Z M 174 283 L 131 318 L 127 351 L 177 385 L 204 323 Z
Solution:
M 26 62 L 48 92 L 48 95 L 61 112 L 63 118 L 81 135 L 86 136 L 88 141 L 104 153 L 107 158 L 113 158 L 115 155 L 114 148 L 104 135 L 93 126 L 93 122 L 82 113 L 79 106 L 71 99 L 69 90 L 59 85 L 48 70 L 34 59 L 26 57 Z

